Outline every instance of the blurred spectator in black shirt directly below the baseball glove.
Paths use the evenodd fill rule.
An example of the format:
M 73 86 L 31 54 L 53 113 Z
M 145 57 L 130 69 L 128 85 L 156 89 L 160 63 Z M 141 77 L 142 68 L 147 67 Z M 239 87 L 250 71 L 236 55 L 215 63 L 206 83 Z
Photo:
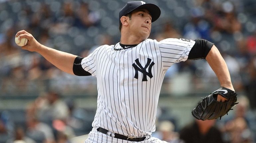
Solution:
M 214 126 L 216 120 L 194 120 L 180 131 L 185 143 L 224 143 L 220 130 Z

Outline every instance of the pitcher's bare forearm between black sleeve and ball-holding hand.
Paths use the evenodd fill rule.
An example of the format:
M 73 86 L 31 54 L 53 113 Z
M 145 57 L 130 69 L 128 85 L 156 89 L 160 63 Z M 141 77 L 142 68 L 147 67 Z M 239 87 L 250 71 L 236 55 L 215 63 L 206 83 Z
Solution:
M 36 52 L 40 53 L 46 60 L 55 65 L 60 70 L 69 74 L 74 74 L 73 63 L 76 55 L 49 48 L 42 44 L 39 45 Z

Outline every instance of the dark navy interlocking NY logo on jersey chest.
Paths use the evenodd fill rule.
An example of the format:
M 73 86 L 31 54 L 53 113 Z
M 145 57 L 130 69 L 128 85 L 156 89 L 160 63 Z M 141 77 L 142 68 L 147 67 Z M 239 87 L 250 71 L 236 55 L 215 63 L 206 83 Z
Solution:
M 134 78 L 136 78 L 136 79 L 138 79 L 138 71 L 140 71 L 141 73 L 142 73 L 142 81 L 148 81 L 147 80 L 147 76 L 149 76 L 150 78 L 152 78 L 153 77 L 153 75 L 152 75 L 152 66 L 155 64 L 153 61 L 152 61 L 152 63 L 150 63 L 151 62 L 151 59 L 150 58 L 148 58 L 148 61 L 147 61 L 147 64 L 145 65 L 145 67 L 143 67 L 142 65 L 141 65 L 141 63 L 139 62 L 139 58 L 137 58 L 136 60 L 135 60 L 135 62 L 136 62 L 136 64 L 135 63 L 133 63 L 132 64 L 132 66 L 134 67 L 134 69 L 135 69 L 135 75 L 134 75 Z M 139 66 L 139 67 L 138 67 Z M 148 68 L 149 67 L 149 68 Z M 148 72 L 146 71 L 146 69 L 148 68 Z

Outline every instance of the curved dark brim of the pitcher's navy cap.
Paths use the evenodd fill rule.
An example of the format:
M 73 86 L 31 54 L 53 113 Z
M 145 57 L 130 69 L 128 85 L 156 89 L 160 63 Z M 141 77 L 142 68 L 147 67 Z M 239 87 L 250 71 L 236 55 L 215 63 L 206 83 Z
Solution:
M 137 8 L 131 10 L 130 12 L 133 12 L 133 11 L 138 10 L 138 9 L 148 10 L 149 13 L 151 14 L 151 17 L 152 17 L 151 22 L 156 21 L 161 15 L 160 8 L 157 5 L 152 4 L 152 3 L 146 3 L 146 4 L 143 4 L 143 5 L 140 5 Z M 128 13 L 130 13 L 130 12 L 128 12 Z

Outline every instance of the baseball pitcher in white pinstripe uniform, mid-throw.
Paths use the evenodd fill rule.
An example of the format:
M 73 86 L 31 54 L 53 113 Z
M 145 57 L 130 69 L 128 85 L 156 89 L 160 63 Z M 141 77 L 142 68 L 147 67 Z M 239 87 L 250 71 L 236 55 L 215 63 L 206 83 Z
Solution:
M 215 119 L 236 102 L 227 65 L 215 45 L 204 39 L 149 39 L 160 8 L 143 1 L 128 2 L 119 13 L 120 41 L 102 45 L 87 57 L 58 51 L 40 44 L 30 33 L 22 49 L 35 51 L 64 72 L 97 78 L 97 110 L 85 143 L 164 143 L 151 136 L 156 130 L 156 110 L 166 71 L 173 64 L 206 59 L 220 89 L 205 97 L 192 115 Z

